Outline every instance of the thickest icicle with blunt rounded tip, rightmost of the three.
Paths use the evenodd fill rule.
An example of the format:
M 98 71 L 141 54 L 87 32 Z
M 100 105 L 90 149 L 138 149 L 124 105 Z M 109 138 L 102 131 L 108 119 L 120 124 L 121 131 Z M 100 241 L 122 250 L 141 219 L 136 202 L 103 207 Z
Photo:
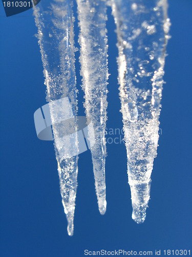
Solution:
M 157 155 L 169 19 L 166 0 L 112 0 L 132 218 L 145 220 Z

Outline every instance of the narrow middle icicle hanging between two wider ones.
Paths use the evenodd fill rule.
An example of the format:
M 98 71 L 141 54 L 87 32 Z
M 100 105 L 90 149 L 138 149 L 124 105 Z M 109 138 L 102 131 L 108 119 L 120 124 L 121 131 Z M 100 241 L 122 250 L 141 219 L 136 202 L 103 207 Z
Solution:
M 92 121 L 95 144 L 91 148 L 99 211 L 105 213 L 105 125 L 108 80 L 106 6 L 102 0 L 76 0 L 80 27 L 80 64 L 84 107 Z M 89 132 L 91 133 L 91 132 Z

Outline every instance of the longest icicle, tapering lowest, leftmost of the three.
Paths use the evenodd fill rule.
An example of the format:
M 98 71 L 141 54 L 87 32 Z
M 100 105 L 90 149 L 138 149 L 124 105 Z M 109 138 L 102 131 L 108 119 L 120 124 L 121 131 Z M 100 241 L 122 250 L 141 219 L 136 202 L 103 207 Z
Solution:
M 41 1 L 34 7 L 35 23 L 38 28 L 38 42 L 44 65 L 47 101 L 52 102 L 68 97 L 74 117 L 77 116 L 76 78 L 74 58 L 74 32 L 72 2 L 65 0 Z M 53 104 L 54 105 L 54 104 Z M 52 105 L 52 106 L 53 106 Z M 50 108 L 52 124 L 58 121 L 58 115 L 65 113 L 65 107 Z M 77 129 L 76 118 L 71 124 Z M 65 127 L 53 125 L 54 145 L 58 162 L 60 192 L 63 207 L 68 220 L 68 234 L 73 235 L 73 219 L 77 189 L 77 156 L 64 158 L 68 149 L 74 146 L 74 140 L 65 142 L 61 137 Z

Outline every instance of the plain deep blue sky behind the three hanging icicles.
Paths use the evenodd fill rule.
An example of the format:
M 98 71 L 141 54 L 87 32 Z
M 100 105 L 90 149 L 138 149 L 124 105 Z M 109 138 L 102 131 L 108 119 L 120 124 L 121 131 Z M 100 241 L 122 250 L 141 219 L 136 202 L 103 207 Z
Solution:
M 125 145 L 108 144 L 107 210 L 97 207 L 91 154 L 79 156 L 74 236 L 67 234 L 53 142 L 37 139 L 33 114 L 46 104 L 32 10 L 1 21 L 0 256 L 83 256 L 89 250 L 191 250 L 192 2 L 169 0 L 172 39 L 167 46 L 158 156 L 146 221 L 131 218 Z M 122 128 L 115 25 L 108 9 L 109 128 Z M 76 16 L 76 14 L 75 14 Z M 75 22 L 77 27 L 77 19 Z M 75 30 L 77 44 L 77 29 Z M 76 52 L 78 59 L 79 51 Z M 83 94 L 77 62 L 79 115 Z

